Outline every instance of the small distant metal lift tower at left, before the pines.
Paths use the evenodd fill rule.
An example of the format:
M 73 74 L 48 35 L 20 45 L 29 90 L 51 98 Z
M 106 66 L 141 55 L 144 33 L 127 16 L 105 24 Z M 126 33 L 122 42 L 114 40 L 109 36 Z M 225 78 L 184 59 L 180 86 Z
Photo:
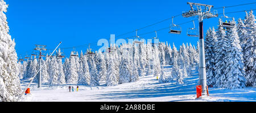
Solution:
M 38 50 L 38 51 L 40 51 L 40 54 L 39 54 L 39 69 L 40 69 L 40 71 L 39 71 L 39 77 L 38 77 L 38 88 L 40 88 L 41 87 L 41 64 L 42 64 L 42 61 L 41 61 L 41 59 L 42 59 L 42 56 L 44 56 L 44 55 L 42 55 L 42 51 L 46 51 L 46 45 L 35 45 L 36 47 L 35 47 L 35 49 L 34 50 Z

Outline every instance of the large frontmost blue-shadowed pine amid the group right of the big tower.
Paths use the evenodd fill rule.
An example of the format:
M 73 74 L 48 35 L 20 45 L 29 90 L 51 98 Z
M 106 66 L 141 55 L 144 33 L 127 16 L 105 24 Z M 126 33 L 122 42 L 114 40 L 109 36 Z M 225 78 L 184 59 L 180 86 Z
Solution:
M 224 87 L 229 89 L 245 88 L 245 70 L 243 64 L 243 54 L 242 48 L 240 46 L 239 37 L 237 34 L 236 21 L 232 21 L 234 25 L 233 28 L 229 29 L 227 37 L 229 37 L 230 47 L 227 48 L 227 59 L 226 62 L 226 82 L 224 82 Z M 226 84 L 225 84 L 226 83 Z

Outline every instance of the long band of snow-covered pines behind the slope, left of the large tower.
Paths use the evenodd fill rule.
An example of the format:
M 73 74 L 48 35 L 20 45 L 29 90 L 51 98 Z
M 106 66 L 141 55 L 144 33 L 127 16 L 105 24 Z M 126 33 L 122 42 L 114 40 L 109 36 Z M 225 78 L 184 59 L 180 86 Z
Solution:
M 97 86 L 100 81 L 105 81 L 107 86 L 135 82 L 139 76 L 154 75 L 160 82 L 174 80 L 178 76 L 179 83 L 183 77 L 191 75 L 191 69 L 197 66 L 198 50 L 191 44 L 183 44 L 177 51 L 173 44 L 161 42 L 159 45 L 148 44 L 123 44 L 112 46 L 110 53 L 84 54 L 71 52 L 69 58 L 58 57 L 60 50 L 51 58 L 42 60 L 42 82 L 51 85 L 76 83 L 80 85 Z M 46 60 L 48 62 L 46 62 Z M 177 72 L 172 77 L 165 78 L 162 71 L 163 65 L 176 64 Z M 184 69 L 185 68 L 185 69 Z M 20 79 L 30 79 L 39 69 L 39 60 L 32 59 L 19 63 Z M 182 69 L 182 72 L 179 72 Z M 162 75 L 162 76 L 160 76 Z M 38 75 L 34 82 L 38 82 Z

